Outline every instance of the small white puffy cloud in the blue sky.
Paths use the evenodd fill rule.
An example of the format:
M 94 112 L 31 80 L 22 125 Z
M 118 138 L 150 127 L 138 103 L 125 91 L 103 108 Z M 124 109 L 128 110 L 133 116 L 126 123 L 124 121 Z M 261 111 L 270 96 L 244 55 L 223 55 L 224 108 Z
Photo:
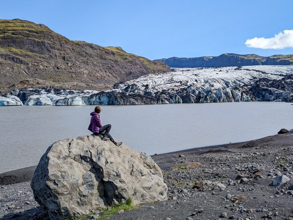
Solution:
M 252 38 L 245 42 L 247 47 L 261 49 L 284 49 L 293 47 L 293 30 L 284 30 L 272 38 Z

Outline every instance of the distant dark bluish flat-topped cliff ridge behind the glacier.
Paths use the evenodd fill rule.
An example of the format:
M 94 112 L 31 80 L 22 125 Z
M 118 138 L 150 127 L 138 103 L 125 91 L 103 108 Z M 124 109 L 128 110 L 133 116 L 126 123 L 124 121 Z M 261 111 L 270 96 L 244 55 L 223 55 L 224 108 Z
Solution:
M 193 57 L 193 58 L 163 58 L 161 61 L 169 67 L 229 67 L 229 66 L 252 66 L 252 65 L 293 65 L 293 54 L 273 55 L 262 57 L 255 54 L 240 55 L 225 53 L 217 57 Z

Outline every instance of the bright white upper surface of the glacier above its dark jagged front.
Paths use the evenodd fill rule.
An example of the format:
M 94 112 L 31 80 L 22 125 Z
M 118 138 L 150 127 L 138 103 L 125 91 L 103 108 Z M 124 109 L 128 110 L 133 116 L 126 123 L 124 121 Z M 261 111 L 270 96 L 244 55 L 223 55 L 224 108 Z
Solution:
M 186 86 L 238 87 L 244 84 L 251 85 L 260 78 L 281 79 L 287 74 L 293 74 L 292 66 L 245 66 L 240 70 L 238 67 L 174 68 L 173 72 L 144 75 L 125 84 L 149 84 L 162 89 Z

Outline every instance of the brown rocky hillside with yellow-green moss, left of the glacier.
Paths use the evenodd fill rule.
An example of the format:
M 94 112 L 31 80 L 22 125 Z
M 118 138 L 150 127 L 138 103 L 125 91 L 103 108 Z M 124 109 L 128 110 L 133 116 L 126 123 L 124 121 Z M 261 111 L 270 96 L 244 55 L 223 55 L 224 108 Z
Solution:
M 0 19 L 0 88 L 37 78 L 46 82 L 36 85 L 105 89 L 119 81 L 169 70 L 162 62 L 126 53 L 120 47 L 72 41 L 43 24 Z

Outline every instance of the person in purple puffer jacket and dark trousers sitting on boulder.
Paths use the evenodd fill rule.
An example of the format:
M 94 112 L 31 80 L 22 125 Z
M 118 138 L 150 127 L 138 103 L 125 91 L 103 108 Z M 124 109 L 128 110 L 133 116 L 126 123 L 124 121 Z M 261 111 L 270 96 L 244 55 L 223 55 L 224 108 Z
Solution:
M 95 135 L 102 134 L 103 132 L 103 141 L 111 140 L 116 146 L 120 146 L 122 142 L 116 142 L 112 138 L 112 136 L 109 134 L 111 130 L 111 125 L 107 124 L 105 126 L 102 126 L 101 120 L 100 120 L 100 112 L 101 108 L 99 106 L 96 106 L 95 111 L 93 111 L 91 115 L 91 123 L 88 126 L 88 130 L 93 132 Z

